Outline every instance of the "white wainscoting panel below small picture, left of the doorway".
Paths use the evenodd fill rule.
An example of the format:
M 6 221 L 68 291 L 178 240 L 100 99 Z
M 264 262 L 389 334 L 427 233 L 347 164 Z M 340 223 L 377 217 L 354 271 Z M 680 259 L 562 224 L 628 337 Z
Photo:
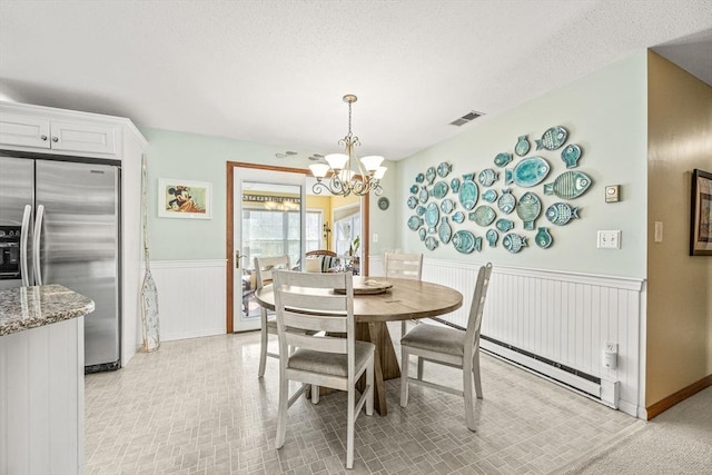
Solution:
M 226 328 L 226 260 L 157 260 L 160 339 L 221 335 Z

